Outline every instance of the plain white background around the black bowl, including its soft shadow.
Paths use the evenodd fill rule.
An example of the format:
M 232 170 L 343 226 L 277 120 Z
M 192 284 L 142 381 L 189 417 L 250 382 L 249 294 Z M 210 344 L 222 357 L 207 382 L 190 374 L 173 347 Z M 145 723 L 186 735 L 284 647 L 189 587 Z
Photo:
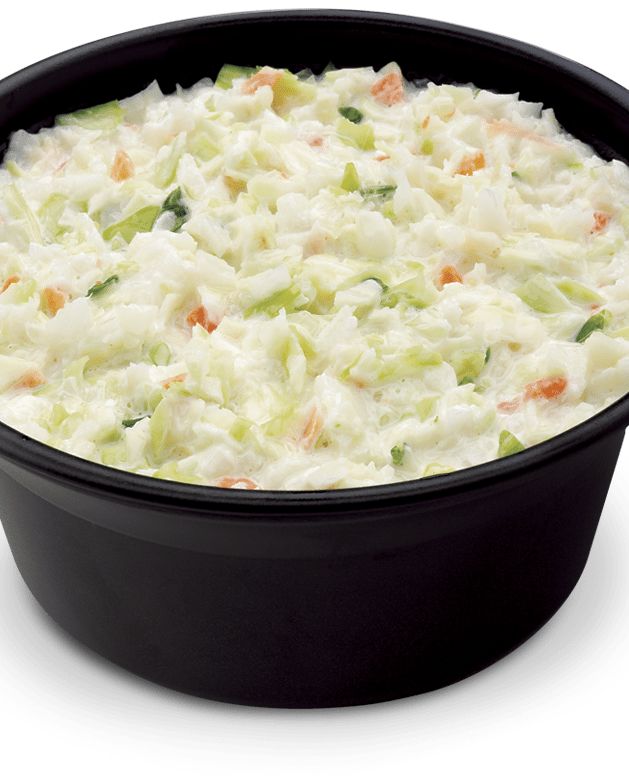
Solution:
M 105 35 L 265 5 L 10 3 L 3 12 L 0 76 Z M 309 7 L 331 5 L 332 0 Z M 415 13 L 502 33 L 629 86 L 626 26 L 614 19 L 610 3 L 570 4 L 569 12 L 566 4 L 549 0 L 363 0 L 335 7 Z M 497 665 L 448 689 L 355 709 L 274 711 L 218 704 L 120 671 L 68 639 L 41 612 L 0 536 L 0 774 L 7 779 L 625 777 L 628 473 L 625 446 L 586 571 L 540 633 Z

